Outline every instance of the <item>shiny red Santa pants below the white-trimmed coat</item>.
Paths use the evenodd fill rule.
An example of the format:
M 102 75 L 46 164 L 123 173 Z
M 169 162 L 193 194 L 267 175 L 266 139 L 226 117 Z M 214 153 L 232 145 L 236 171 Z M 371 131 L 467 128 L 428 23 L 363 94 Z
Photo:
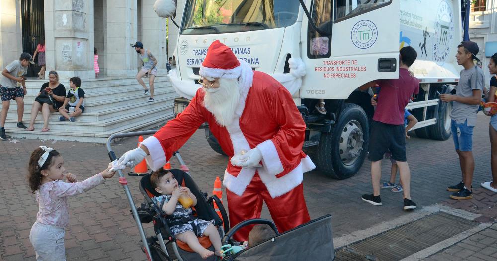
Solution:
M 247 219 L 260 218 L 262 201 L 266 203 L 271 218 L 280 233 L 311 220 L 309 212 L 307 212 L 302 184 L 284 195 L 272 198 L 266 186 L 260 180 L 259 175 L 255 174 L 242 196 L 238 196 L 226 189 L 226 197 L 228 199 L 230 225 L 232 227 Z M 252 227 L 246 226 L 238 230 L 234 235 L 235 240 L 247 240 L 248 233 Z

